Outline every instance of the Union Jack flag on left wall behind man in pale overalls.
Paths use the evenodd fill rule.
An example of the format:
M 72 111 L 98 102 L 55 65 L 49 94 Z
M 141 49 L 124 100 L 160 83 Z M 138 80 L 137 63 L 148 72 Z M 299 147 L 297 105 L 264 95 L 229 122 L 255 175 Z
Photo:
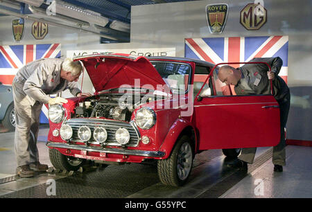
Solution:
M 0 82 L 12 85 L 17 71 L 28 62 L 41 58 L 60 58 L 60 44 L 0 46 Z M 43 105 L 40 123 L 49 123 L 48 109 Z

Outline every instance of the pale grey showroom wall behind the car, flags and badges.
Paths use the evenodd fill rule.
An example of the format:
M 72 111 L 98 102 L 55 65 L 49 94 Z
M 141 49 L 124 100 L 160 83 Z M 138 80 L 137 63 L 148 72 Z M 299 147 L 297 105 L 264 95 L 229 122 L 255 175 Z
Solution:
M 207 24 L 205 8 L 209 4 L 216 3 L 228 5 L 228 15 L 222 33 L 211 33 Z M 289 142 L 310 143 L 309 141 L 312 141 L 310 130 L 312 127 L 312 1 L 265 0 L 263 6 L 266 8 L 266 21 L 261 23 L 259 29 L 253 30 L 248 30 L 240 21 L 241 11 L 249 3 L 254 1 L 186 1 L 132 6 L 130 43 L 119 44 L 100 44 L 97 35 L 55 26 L 49 26 L 42 39 L 35 39 L 31 34 L 33 21 L 29 20 L 25 20 L 21 41 L 14 42 L 11 23 L 16 17 L 4 16 L 0 17 L 0 46 L 60 44 L 61 57 L 66 57 L 67 52 L 73 51 L 110 52 L 110 49 L 132 49 L 136 53 L 145 54 L 152 48 L 161 49 L 159 52 L 168 48 L 168 55 L 184 57 L 187 51 L 186 39 L 287 37 L 286 73 L 288 86 L 291 88 L 287 139 Z M 16 71 L 7 72 L 0 69 L 0 78 L 1 75 L 8 75 L 8 73 L 14 75 Z M 83 91 L 92 90 L 89 78 L 85 77 L 83 84 Z M 70 94 L 64 92 L 62 95 Z

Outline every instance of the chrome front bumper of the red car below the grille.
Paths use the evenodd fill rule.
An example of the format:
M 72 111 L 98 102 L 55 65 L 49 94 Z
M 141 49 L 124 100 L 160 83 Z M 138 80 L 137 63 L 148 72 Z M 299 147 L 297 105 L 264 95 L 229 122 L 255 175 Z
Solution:
M 84 145 L 73 145 L 67 143 L 55 143 L 49 142 L 46 143 L 48 147 L 51 148 L 65 148 L 70 150 L 86 150 L 90 152 L 105 152 L 111 154 L 127 154 L 127 155 L 135 155 L 135 156 L 144 156 L 144 157 L 164 157 L 165 152 L 159 151 L 144 151 L 144 150 L 124 150 L 124 149 L 113 149 L 113 148 L 97 148 L 92 146 L 84 146 Z

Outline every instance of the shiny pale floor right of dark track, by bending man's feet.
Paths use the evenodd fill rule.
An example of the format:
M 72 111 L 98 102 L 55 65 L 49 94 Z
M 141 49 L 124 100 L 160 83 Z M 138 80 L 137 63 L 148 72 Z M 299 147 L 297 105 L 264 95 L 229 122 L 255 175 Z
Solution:
M 271 160 L 221 195 L 221 198 L 311 198 L 312 148 L 286 147 L 283 173 L 274 173 Z

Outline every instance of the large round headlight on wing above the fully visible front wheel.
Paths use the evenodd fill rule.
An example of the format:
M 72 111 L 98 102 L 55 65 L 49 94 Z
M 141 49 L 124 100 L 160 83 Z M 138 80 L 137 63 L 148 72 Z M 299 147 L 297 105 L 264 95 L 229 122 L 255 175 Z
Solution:
M 155 125 L 156 114 L 153 109 L 142 107 L 141 109 L 138 109 L 137 114 L 135 114 L 135 123 L 141 129 L 148 130 Z

